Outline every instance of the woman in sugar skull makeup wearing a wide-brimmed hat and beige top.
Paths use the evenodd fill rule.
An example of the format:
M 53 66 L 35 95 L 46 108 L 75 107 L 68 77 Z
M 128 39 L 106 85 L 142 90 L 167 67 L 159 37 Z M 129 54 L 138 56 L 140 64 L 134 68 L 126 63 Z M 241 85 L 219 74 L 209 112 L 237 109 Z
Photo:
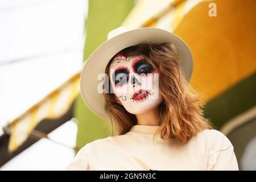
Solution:
M 170 32 L 110 32 L 84 65 L 81 94 L 110 121 L 112 137 L 86 144 L 66 169 L 238 170 L 232 143 L 204 118 L 188 84 L 192 68 L 187 44 Z

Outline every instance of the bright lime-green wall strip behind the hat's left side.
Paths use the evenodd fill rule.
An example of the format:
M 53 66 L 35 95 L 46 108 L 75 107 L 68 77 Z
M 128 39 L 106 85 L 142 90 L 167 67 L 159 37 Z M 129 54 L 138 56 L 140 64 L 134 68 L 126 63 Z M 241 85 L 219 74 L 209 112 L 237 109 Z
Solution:
M 105 42 L 109 31 L 121 25 L 133 9 L 134 3 L 134 0 L 89 0 L 88 19 L 85 21 L 84 60 Z M 77 148 L 93 140 L 110 136 L 108 123 L 93 114 L 84 104 L 81 96 L 76 100 L 74 115 L 79 122 Z

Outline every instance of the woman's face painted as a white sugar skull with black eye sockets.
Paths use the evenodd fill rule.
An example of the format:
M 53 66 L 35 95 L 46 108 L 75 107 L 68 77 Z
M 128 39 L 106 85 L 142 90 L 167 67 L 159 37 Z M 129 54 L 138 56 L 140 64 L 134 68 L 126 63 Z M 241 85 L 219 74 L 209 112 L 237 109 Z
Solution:
M 163 100 L 159 94 L 158 72 L 143 55 L 115 56 L 109 78 L 115 96 L 129 113 L 146 113 Z

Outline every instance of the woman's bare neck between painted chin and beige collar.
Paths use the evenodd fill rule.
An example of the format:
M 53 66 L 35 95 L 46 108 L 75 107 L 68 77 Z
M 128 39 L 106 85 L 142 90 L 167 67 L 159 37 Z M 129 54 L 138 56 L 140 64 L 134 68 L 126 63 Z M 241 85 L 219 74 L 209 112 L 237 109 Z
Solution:
M 136 114 L 136 118 L 137 125 L 158 126 L 159 109 L 156 107 L 146 113 Z

